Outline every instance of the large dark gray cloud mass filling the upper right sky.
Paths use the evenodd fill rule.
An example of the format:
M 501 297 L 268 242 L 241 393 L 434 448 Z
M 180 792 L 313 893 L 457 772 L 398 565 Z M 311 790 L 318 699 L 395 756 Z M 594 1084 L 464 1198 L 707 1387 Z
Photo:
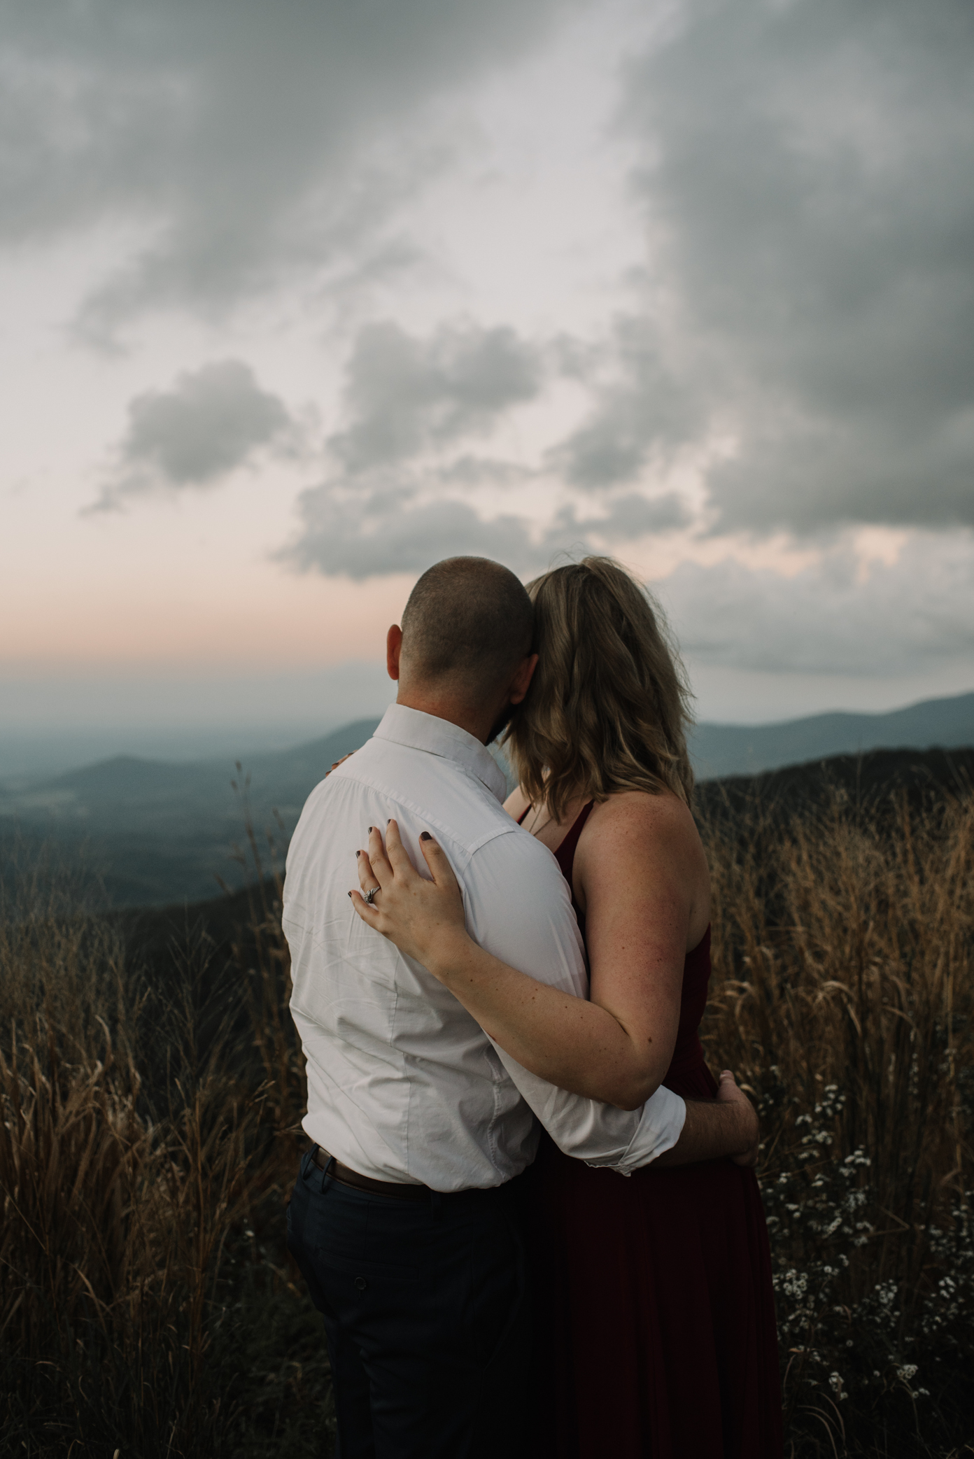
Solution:
M 965 0 L 691 0 L 631 67 L 650 271 L 694 346 L 675 378 L 738 439 L 714 528 L 974 522 L 971 95 Z M 576 479 L 612 477 L 589 442 L 627 439 L 627 392 L 652 411 L 626 374 Z

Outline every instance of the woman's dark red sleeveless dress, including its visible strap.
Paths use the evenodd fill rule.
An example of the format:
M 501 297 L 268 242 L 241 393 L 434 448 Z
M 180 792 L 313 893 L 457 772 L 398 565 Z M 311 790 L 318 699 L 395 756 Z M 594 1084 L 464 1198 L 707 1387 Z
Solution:
M 556 852 L 569 886 L 591 808 Z M 704 1099 L 717 1088 L 697 1034 L 709 979 L 710 929 L 684 964 L 663 1080 Z M 627 1179 L 544 1135 L 531 1231 L 532 1459 L 780 1459 L 771 1256 L 752 1170 L 710 1160 Z

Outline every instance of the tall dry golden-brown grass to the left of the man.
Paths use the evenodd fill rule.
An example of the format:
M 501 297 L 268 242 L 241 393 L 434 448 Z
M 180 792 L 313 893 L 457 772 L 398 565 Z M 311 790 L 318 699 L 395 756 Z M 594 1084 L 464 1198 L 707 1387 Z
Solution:
M 220 966 L 194 926 L 140 966 L 61 877 L 7 891 L 3 1453 L 319 1452 L 327 1363 L 283 1247 L 303 1088 L 273 883 L 248 924 Z

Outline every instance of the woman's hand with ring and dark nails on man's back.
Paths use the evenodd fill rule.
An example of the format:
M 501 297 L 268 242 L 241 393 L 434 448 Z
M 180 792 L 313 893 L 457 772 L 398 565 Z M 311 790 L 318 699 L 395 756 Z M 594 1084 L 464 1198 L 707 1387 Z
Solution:
M 405 956 L 446 982 L 464 943 L 470 943 L 464 916 L 464 894 L 445 852 L 429 832 L 420 849 L 432 880 L 421 877 L 402 845 L 394 820 L 386 826 L 385 845 L 376 826 L 369 827 L 369 849 L 359 851 L 359 891 L 351 903 L 370 928 L 381 932 Z M 365 893 L 378 889 L 372 902 Z

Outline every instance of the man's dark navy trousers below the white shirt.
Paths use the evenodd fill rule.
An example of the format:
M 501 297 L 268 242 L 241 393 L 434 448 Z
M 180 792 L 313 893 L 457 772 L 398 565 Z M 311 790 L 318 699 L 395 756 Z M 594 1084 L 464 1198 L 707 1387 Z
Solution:
M 338 1459 L 518 1459 L 531 1313 L 523 1177 L 397 1201 L 312 1156 L 287 1246 L 325 1320 Z

